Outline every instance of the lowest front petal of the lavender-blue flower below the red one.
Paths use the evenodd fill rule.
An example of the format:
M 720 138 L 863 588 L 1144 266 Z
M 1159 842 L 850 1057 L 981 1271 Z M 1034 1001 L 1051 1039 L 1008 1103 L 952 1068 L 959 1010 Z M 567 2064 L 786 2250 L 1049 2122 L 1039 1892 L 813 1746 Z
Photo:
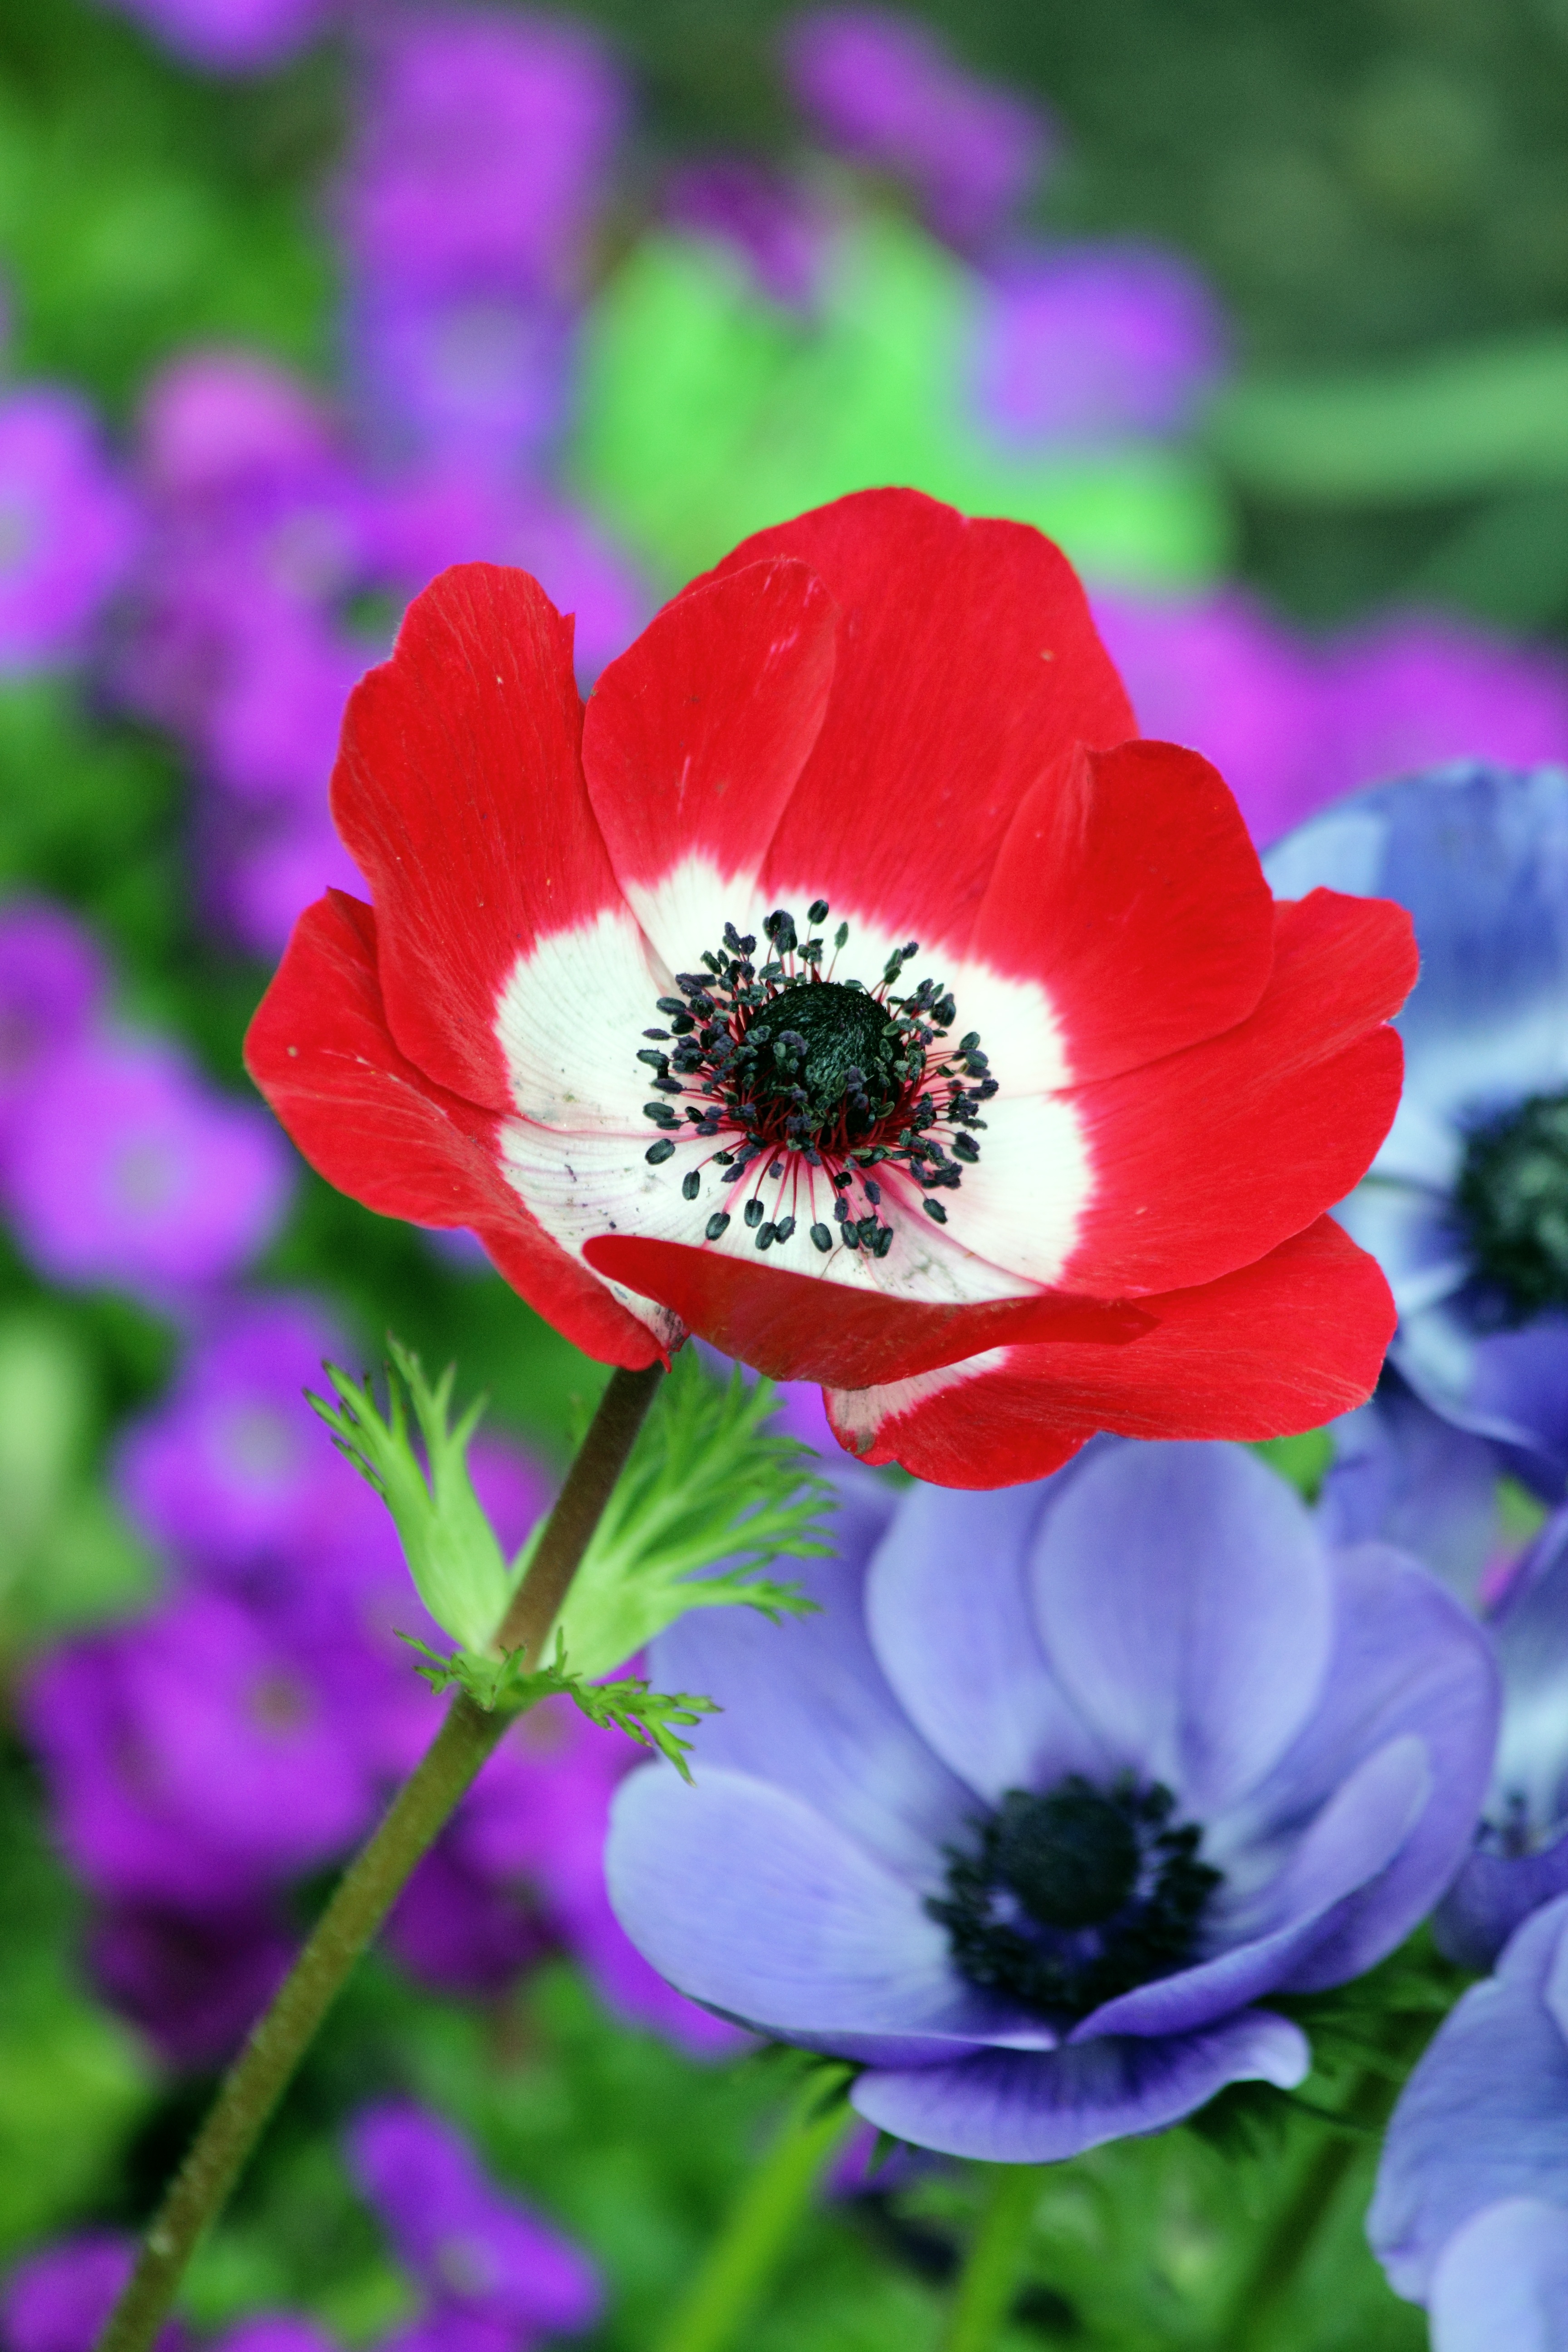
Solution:
M 875 2067 L 851 2105 L 879 2131 L 983 2164 L 1056 2164 L 1105 2140 L 1164 2131 L 1227 2082 L 1291 2089 L 1312 2058 L 1305 2034 L 1267 2009 L 1166 2042 L 1079 2042 L 1060 2051 L 983 2051 L 957 2065 Z

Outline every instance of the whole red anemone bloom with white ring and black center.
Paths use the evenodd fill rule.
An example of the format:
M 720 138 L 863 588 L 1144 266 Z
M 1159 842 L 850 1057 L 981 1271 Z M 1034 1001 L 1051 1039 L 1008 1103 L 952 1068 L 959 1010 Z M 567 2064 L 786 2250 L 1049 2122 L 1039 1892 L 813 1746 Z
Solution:
M 696 1331 L 957 1486 L 1371 1390 L 1394 1310 L 1324 1211 L 1394 1115 L 1408 920 L 1274 906 L 1037 532 L 842 499 L 585 708 L 538 583 L 461 564 L 355 689 L 334 814 L 374 910 L 301 917 L 252 1075 L 590 1355 Z

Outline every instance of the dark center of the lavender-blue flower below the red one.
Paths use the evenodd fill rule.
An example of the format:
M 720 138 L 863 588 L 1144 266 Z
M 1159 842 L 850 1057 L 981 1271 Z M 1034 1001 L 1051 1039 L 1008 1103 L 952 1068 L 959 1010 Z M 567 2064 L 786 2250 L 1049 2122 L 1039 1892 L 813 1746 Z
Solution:
M 1168 1788 L 1131 1778 L 1009 1790 L 973 1844 L 947 1849 L 947 1893 L 926 1903 L 959 1973 L 1072 2020 L 1187 1966 L 1222 1872 L 1197 1858 L 1204 1832 L 1173 1813 Z

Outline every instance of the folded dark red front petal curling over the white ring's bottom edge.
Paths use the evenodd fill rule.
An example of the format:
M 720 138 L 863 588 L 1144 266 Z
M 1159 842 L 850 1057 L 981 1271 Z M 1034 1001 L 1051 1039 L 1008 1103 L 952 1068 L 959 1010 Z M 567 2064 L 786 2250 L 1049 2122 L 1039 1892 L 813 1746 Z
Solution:
M 1009 1338 L 1051 1334 L 1063 1343 L 1117 1345 L 1145 1329 L 1143 1308 L 1034 1291 L 980 1305 L 926 1305 L 790 1275 L 717 1249 L 597 1232 L 588 1263 L 644 1298 L 658 1298 L 696 1331 L 771 1381 L 872 1388 L 907 1381 Z

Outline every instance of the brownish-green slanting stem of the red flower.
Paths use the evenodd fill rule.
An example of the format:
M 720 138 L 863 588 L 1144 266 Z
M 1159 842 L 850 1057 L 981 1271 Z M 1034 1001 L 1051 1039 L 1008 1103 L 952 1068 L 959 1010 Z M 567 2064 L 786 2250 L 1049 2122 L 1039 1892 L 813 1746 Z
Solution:
M 616 1371 L 599 1399 L 538 1550 L 501 1623 L 498 1644 L 536 1658 L 588 1541 L 654 1402 L 661 1367 Z M 143 2239 L 99 2352 L 146 2352 L 209 2220 L 223 2209 L 261 2131 L 348 1971 L 397 1900 L 512 1712 L 484 1712 L 465 1693 L 397 1790 L 381 1828 L 348 1865 L 273 2006 L 223 2077 L 216 2100 Z

